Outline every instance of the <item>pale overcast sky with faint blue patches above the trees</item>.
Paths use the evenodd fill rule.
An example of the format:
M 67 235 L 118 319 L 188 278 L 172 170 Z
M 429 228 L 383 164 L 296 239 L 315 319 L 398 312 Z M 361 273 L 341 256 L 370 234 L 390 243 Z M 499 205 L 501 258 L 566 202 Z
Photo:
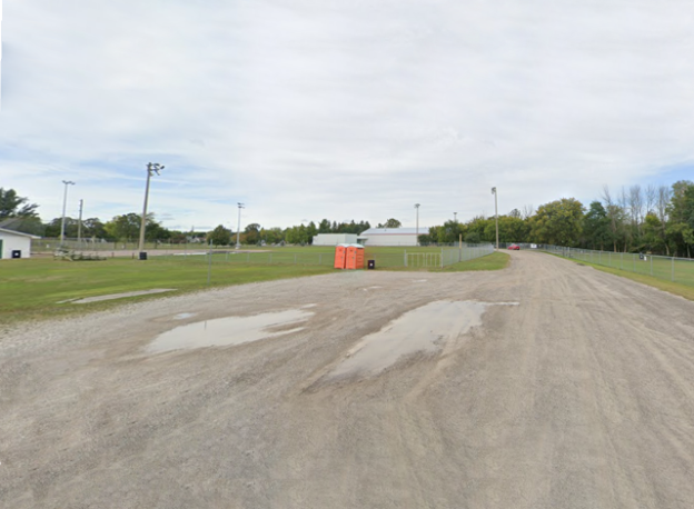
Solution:
M 440 224 L 694 179 L 691 0 L 4 0 L 0 187 L 44 220 Z

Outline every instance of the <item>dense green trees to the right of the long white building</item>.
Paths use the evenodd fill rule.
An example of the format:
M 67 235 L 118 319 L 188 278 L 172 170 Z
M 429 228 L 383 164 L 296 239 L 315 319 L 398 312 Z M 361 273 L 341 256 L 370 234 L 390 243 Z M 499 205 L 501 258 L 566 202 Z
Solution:
M 586 208 L 562 198 L 534 210 L 512 210 L 498 217 L 499 242 L 534 242 L 615 252 L 650 252 L 692 258 L 694 248 L 694 182 L 632 186 L 613 193 L 604 187 Z M 495 242 L 495 218 L 446 221 L 419 236 L 419 242 Z

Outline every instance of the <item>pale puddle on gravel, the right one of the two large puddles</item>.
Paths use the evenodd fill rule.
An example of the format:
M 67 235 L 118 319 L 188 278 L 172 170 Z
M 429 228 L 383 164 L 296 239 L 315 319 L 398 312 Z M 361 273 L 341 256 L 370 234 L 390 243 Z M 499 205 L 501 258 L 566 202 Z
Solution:
M 503 306 L 517 302 L 499 302 Z M 492 302 L 437 301 L 396 318 L 378 332 L 368 335 L 333 370 L 330 377 L 353 373 L 378 375 L 400 358 L 416 352 L 436 353 L 446 341 L 455 341 L 473 327 Z

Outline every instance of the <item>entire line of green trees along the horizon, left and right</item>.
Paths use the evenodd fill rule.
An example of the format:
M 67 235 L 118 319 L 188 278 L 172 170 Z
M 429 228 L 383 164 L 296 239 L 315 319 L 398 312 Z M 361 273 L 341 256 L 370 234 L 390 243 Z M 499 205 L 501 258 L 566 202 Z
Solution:
M 61 218 L 42 222 L 38 206 L 20 197 L 13 189 L 0 188 L 0 227 L 41 237 L 59 237 Z M 148 241 L 184 243 L 212 242 L 227 246 L 244 244 L 309 244 L 318 233 L 356 233 L 370 228 L 368 221 L 337 222 L 323 219 L 301 222 L 289 228 L 262 228 L 248 224 L 241 232 L 218 226 L 207 232 L 169 230 L 148 214 Z M 388 219 L 378 228 L 399 228 L 400 221 Z M 78 236 L 79 221 L 66 218 L 66 237 Z M 140 216 L 127 213 L 102 222 L 88 218 L 81 222 L 81 237 L 107 241 L 133 242 L 139 238 Z M 578 247 L 615 252 L 651 252 L 691 258 L 694 248 L 694 182 L 682 180 L 673 186 L 638 184 L 612 192 L 603 188 L 598 199 L 584 207 L 575 198 L 562 198 L 539 206 L 526 206 L 498 217 L 500 242 L 534 242 Z M 494 242 L 494 217 L 478 216 L 467 222 L 449 220 L 419 236 L 422 244 L 456 242 Z

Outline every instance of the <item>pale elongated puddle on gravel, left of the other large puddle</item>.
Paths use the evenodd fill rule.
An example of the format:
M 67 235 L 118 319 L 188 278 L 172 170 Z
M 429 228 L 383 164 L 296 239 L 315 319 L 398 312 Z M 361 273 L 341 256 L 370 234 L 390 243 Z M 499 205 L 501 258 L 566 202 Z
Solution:
M 291 327 L 308 320 L 314 313 L 290 309 L 252 317 L 227 317 L 198 321 L 177 327 L 155 338 L 147 347 L 149 352 L 163 352 L 202 347 L 226 347 L 259 339 L 298 332 L 303 327 Z

